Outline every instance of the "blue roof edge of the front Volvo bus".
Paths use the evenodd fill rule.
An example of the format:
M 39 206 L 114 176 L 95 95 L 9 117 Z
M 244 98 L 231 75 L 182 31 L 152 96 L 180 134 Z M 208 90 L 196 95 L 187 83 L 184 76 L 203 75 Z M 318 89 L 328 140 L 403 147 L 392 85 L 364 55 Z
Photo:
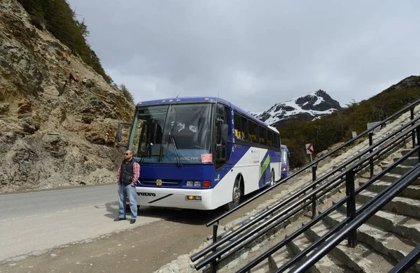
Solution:
M 256 117 L 253 117 L 253 115 L 249 114 L 248 112 L 242 110 L 241 108 L 237 107 L 236 105 L 230 103 L 229 101 L 224 100 L 223 98 L 216 98 L 216 97 L 182 97 L 182 98 L 163 98 L 160 100 L 153 100 L 153 101 L 140 101 L 137 103 L 137 107 L 144 106 L 144 105 L 163 105 L 163 104 L 176 104 L 176 103 L 224 103 L 225 105 L 228 105 L 230 108 L 237 110 L 242 115 L 248 117 L 248 119 L 251 119 L 252 121 L 255 121 L 256 123 L 265 126 L 267 128 L 270 128 L 272 131 L 279 133 L 276 128 L 269 126 L 265 122 L 261 121 L 260 119 L 257 119 Z

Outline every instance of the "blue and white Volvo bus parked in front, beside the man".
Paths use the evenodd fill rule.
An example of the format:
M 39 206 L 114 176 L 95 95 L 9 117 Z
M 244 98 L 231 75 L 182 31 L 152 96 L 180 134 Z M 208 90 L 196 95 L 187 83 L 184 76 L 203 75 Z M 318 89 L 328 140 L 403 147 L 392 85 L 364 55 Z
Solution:
M 222 98 L 142 101 L 129 125 L 139 206 L 232 209 L 281 178 L 279 131 Z

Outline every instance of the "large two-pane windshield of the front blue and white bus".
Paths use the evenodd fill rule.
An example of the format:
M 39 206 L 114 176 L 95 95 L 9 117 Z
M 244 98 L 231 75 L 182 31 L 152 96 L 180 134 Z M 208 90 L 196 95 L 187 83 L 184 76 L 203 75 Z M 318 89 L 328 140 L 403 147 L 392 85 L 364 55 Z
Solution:
M 134 122 L 134 152 L 137 151 L 143 162 L 211 162 L 211 105 L 138 108 Z

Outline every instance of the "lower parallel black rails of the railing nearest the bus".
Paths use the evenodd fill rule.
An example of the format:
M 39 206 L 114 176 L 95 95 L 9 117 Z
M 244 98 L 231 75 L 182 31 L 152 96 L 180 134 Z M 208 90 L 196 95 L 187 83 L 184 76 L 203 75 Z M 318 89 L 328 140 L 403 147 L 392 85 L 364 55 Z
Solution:
M 412 133 L 412 126 L 419 119 L 420 119 L 420 116 L 416 117 L 415 119 L 412 119 L 411 121 L 409 121 L 404 126 L 401 126 L 397 130 L 393 131 L 393 133 L 389 134 L 388 138 L 392 138 L 393 136 L 397 135 L 398 133 L 401 133 L 402 131 L 404 131 L 406 128 L 408 128 L 407 131 L 404 131 L 403 133 L 401 133 L 401 135 L 398 138 L 402 138 L 405 135 L 409 135 L 410 133 Z M 417 126 L 419 126 L 419 124 L 417 124 Z M 354 162 L 357 158 L 360 158 L 360 156 L 363 156 L 364 154 L 367 154 L 372 149 L 374 149 L 376 147 L 379 147 L 381 145 L 384 145 L 385 147 L 388 147 L 393 142 L 395 142 L 395 140 L 393 140 L 393 139 L 390 140 L 388 138 L 383 138 L 383 139 L 379 140 L 377 143 L 375 143 L 374 145 L 371 145 L 370 147 L 367 147 L 365 150 L 363 150 L 363 152 L 360 152 L 359 154 L 356 154 L 352 158 L 349 158 L 344 163 L 338 165 L 336 168 L 334 168 L 333 170 L 331 170 L 327 174 L 323 175 L 323 177 L 320 177 L 320 178 L 316 179 L 314 182 L 308 184 L 307 186 L 304 186 L 304 188 L 300 189 L 300 191 L 297 191 L 296 193 L 294 193 L 293 195 L 290 195 L 285 200 L 279 202 L 279 204 L 274 205 L 274 207 L 272 207 L 270 209 L 267 209 L 266 211 L 262 212 L 261 214 L 256 216 L 254 219 L 252 219 L 248 223 L 246 223 L 243 226 L 241 226 L 240 228 L 238 228 L 237 230 L 233 231 L 232 233 L 229 233 L 228 235 L 226 235 L 222 239 L 219 239 L 218 241 L 214 242 L 213 244 L 210 244 L 209 246 L 205 247 L 204 249 L 202 249 L 198 253 L 195 253 L 193 256 L 190 257 L 190 259 L 193 262 L 195 262 L 199 258 L 203 257 L 205 254 L 209 253 L 210 251 L 214 251 L 214 249 L 216 249 L 218 246 L 221 246 L 222 244 L 224 244 L 228 240 L 232 239 L 232 237 L 235 237 L 236 235 L 240 234 L 244 230 L 253 226 L 253 224 L 258 223 L 258 221 L 260 221 L 261 219 L 264 219 L 269 214 L 272 214 L 272 212 L 274 212 L 277 209 L 283 207 L 283 205 L 288 204 L 291 200 L 297 198 L 302 193 L 304 194 L 301 198 L 298 198 L 295 202 L 293 202 L 289 207 L 287 207 L 286 209 L 283 209 L 281 212 L 279 212 L 279 214 L 276 214 L 275 216 L 272 216 L 270 219 L 268 219 L 267 221 L 265 221 L 261 225 L 258 225 L 258 227 L 253 228 L 253 230 L 250 230 L 243 237 L 239 237 L 239 238 L 233 240 L 228 246 L 223 246 L 221 249 L 218 249 L 217 251 L 214 251 L 211 255 L 207 256 L 206 258 L 204 258 L 204 260 L 200 261 L 200 263 L 197 263 L 197 265 L 195 265 L 195 268 L 197 270 L 199 270 L 201 267 L 206 265 L 209 262 L 209 260 L 214 260 L 214 258 L 216 258 L 218 256 L 221 256 L 221 254 L 223 254 L 223 253 L 229 251 L 230 249 L 232 249 L 235 246 L 234 242 L 239 242 L 239 240 L 241 240 L 241 239 L 247 239 L 248 237 L 250 237 L 254 233 L 258 232 L 258 230 L 264 228 L 265 226 L 268 226 L 270 223 L 272 223 L 272 221 L 274 221 L 274 220 L 278 219 L 279 217 L 283 216 L 284 214 L 290 212 L 290 210 L 297 207 L 297 205 L 300 205 L 301 202 L 304 202 L 305 200 L 311 198 L 311 195 L 318 193 L 319 191 L 325 189 L 325 187 L 327 187 L 327 186 L 330 186 L 330 184 L 335 182 L 341 176 L 340 177 L 335 177 L 330 182 L 325 183 L 325 184 L 321 184 L 318 187 L 316 187 L 316 189 L 312 189 L 311 191 L 309 191 L 309 193 L 306 193 L 306 191 L 311 189 L 314 185 L 319 184 L 323 180 L 325 180 L 328 177 L 334 175 L 339 170 L 341 170 L 342 172 L 349 171 L 351 169 L 356 168 L 357 165 L 360 165 L 361 163 L 370 160 L 370 158 L 374 158 L 374 156 L 376 156 L 379 152 L 381 152 L 381 149 L 376 149 L 374 152 L 372 152 L 368 156 L 365 156 L 364 158 L 361 158 L 359 161 L 356 161 L 355 164 L 353 164 L 349 167 L 346 167 L 346 165 L 349 165 L 350 163 Z M 382 149 L 384 149 L 384 147 Z M 342 170 L 343 168 L 344 168 L 344 170 Z

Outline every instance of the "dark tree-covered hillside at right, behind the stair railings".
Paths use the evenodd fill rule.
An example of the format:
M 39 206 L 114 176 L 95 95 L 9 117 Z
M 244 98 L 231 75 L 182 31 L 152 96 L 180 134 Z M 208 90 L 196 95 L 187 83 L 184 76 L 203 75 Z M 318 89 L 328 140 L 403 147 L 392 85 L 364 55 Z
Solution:
M 337 142 L 351 139 L 351 132 L 362 133 L 367 123 L 381 121 L 420 98 L 420 87 L 387 89 L 360 103 L 349 103 L 342 112 L 315 121 L 289 119 L 279 128 L 281 143 L 290 150 L 290 165 L 294 168 L 309 163 L 305 143 L 313 143 L 314 151 L 322 152 Z

